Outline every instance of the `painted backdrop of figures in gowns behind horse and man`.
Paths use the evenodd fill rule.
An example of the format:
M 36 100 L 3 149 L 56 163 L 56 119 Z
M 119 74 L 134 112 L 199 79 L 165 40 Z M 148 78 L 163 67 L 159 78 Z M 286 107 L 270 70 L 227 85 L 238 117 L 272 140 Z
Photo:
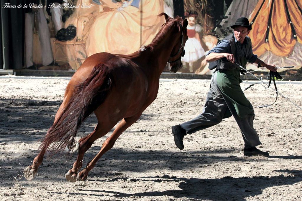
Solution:
M 294 66 L 283 74 L 301 74 L 301 0 L 54 0 L 46 1 L 45 7 L 50 3 L 56 7 L 34 11 L 35 16 L 45 14 L 50 33 L 41 36 L 37 17 L 33 18 L 33 39 L 27 42 L 33 44 L 33 55 L 27 56 L 32 61 L 26 62 L 35 65 L 34 69 L 76 70 L 97 52 L 135 52 L 152 41 L 164 23 L 157 15 L 166 12 L 191 22 L 182 73 L 212 74 L 205 55 L 232 34 L 230 25 L 244 16 L 252 23 L 249 36 L 254 54 L 280 67 Z M 183 12 L 177 11 L 179 5 L 183 5 Z M 53 60 L 43 53 L 49 52 L 45 50 L 48 40 Z M 247 69 L 254 70 L 256 65 L 248 64 Z

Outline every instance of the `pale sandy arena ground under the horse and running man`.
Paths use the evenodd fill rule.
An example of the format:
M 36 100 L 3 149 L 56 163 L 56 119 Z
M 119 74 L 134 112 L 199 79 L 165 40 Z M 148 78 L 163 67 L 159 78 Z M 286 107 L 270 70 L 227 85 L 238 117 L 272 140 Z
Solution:
M 37 155 L 38 140 L 53 123 L 68 81 L 0 78 L 1 200 L 302 200 L 302 111 L 282 97 L 271 107 L 255 108 L 260 149 L 268 150 L 269 158 L 243 157 L 233 117 L 185 136 L 185 149 L 176 148 L 171 127 L 201 112 L 209 80 L 161 80 L 158 98 L 99 160 L 87 181 L 65 180 L 76 154 L 45 157 L 37 177 L 25 180 L 23 169 Z M 277 84 L 301 107 L 301 82 Z M 254 106 L 275 99 L 272 90 L 260 85 L 245 93 Z M 92 115 L 77 139 L 95 123 Z M 84 165 L 109 135 L 86 152 Z

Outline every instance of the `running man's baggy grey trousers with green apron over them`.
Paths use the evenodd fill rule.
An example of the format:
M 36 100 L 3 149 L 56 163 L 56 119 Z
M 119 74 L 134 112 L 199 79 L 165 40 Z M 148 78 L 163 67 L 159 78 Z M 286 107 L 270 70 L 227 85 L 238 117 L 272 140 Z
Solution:
M 259 136 L 253 127 L 254 110 L 241 90 L 241 82 L 239 70 L 215 71 L 202 113 L 181 126 L 191 134 L 219 124 L 223 118 L 233 115 L 241 130 L 245 147 L 260 145 Z

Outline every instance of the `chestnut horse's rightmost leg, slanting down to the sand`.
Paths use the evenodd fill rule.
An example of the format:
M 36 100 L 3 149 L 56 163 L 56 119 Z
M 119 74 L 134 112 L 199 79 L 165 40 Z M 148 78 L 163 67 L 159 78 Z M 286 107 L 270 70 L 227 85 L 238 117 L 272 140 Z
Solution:
M 129 118 L 124 118 L 120 123 L 117 125 L 117 127 L 114 129 L 112 135 L 108 137 L 105 142 L 103 143 L 103 146 L 101 150 L 98 152 L 98 154 L 92 159 L 92 161 L 88 162 L 87 166 L 85 169 L 83 169 L 81 172 L 78 174 L 78 180 L 86 180 L 88 173 L 92 168 L 95 166 L 96 162 L 98 159 L 101 158 L 102 155 L 104 155 L 105 152 L 110 150 L 115 141 L 117 140 L 118 137 L 120 137 L 120 134 L 122 134 L 128 127 L 130 127 L 135 121 L 137 121 L 138 118 L 140 118 L 140 115 L 135 115 Z

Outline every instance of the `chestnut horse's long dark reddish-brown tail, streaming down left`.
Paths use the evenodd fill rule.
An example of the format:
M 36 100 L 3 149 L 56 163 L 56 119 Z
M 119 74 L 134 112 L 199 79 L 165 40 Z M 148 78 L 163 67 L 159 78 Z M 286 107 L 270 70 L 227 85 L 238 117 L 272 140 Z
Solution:
M 50 146 L 54 154 L 62 152 L 70 142 L 73 145 L 80 125 L 104 102 L 111 85 L 112 77 L 108 66 L 95 66 L 90 76 L 75 86 L 73 96 L 63 109 L 63 114 L 50 127 L 40 148 L 47 149 Z

